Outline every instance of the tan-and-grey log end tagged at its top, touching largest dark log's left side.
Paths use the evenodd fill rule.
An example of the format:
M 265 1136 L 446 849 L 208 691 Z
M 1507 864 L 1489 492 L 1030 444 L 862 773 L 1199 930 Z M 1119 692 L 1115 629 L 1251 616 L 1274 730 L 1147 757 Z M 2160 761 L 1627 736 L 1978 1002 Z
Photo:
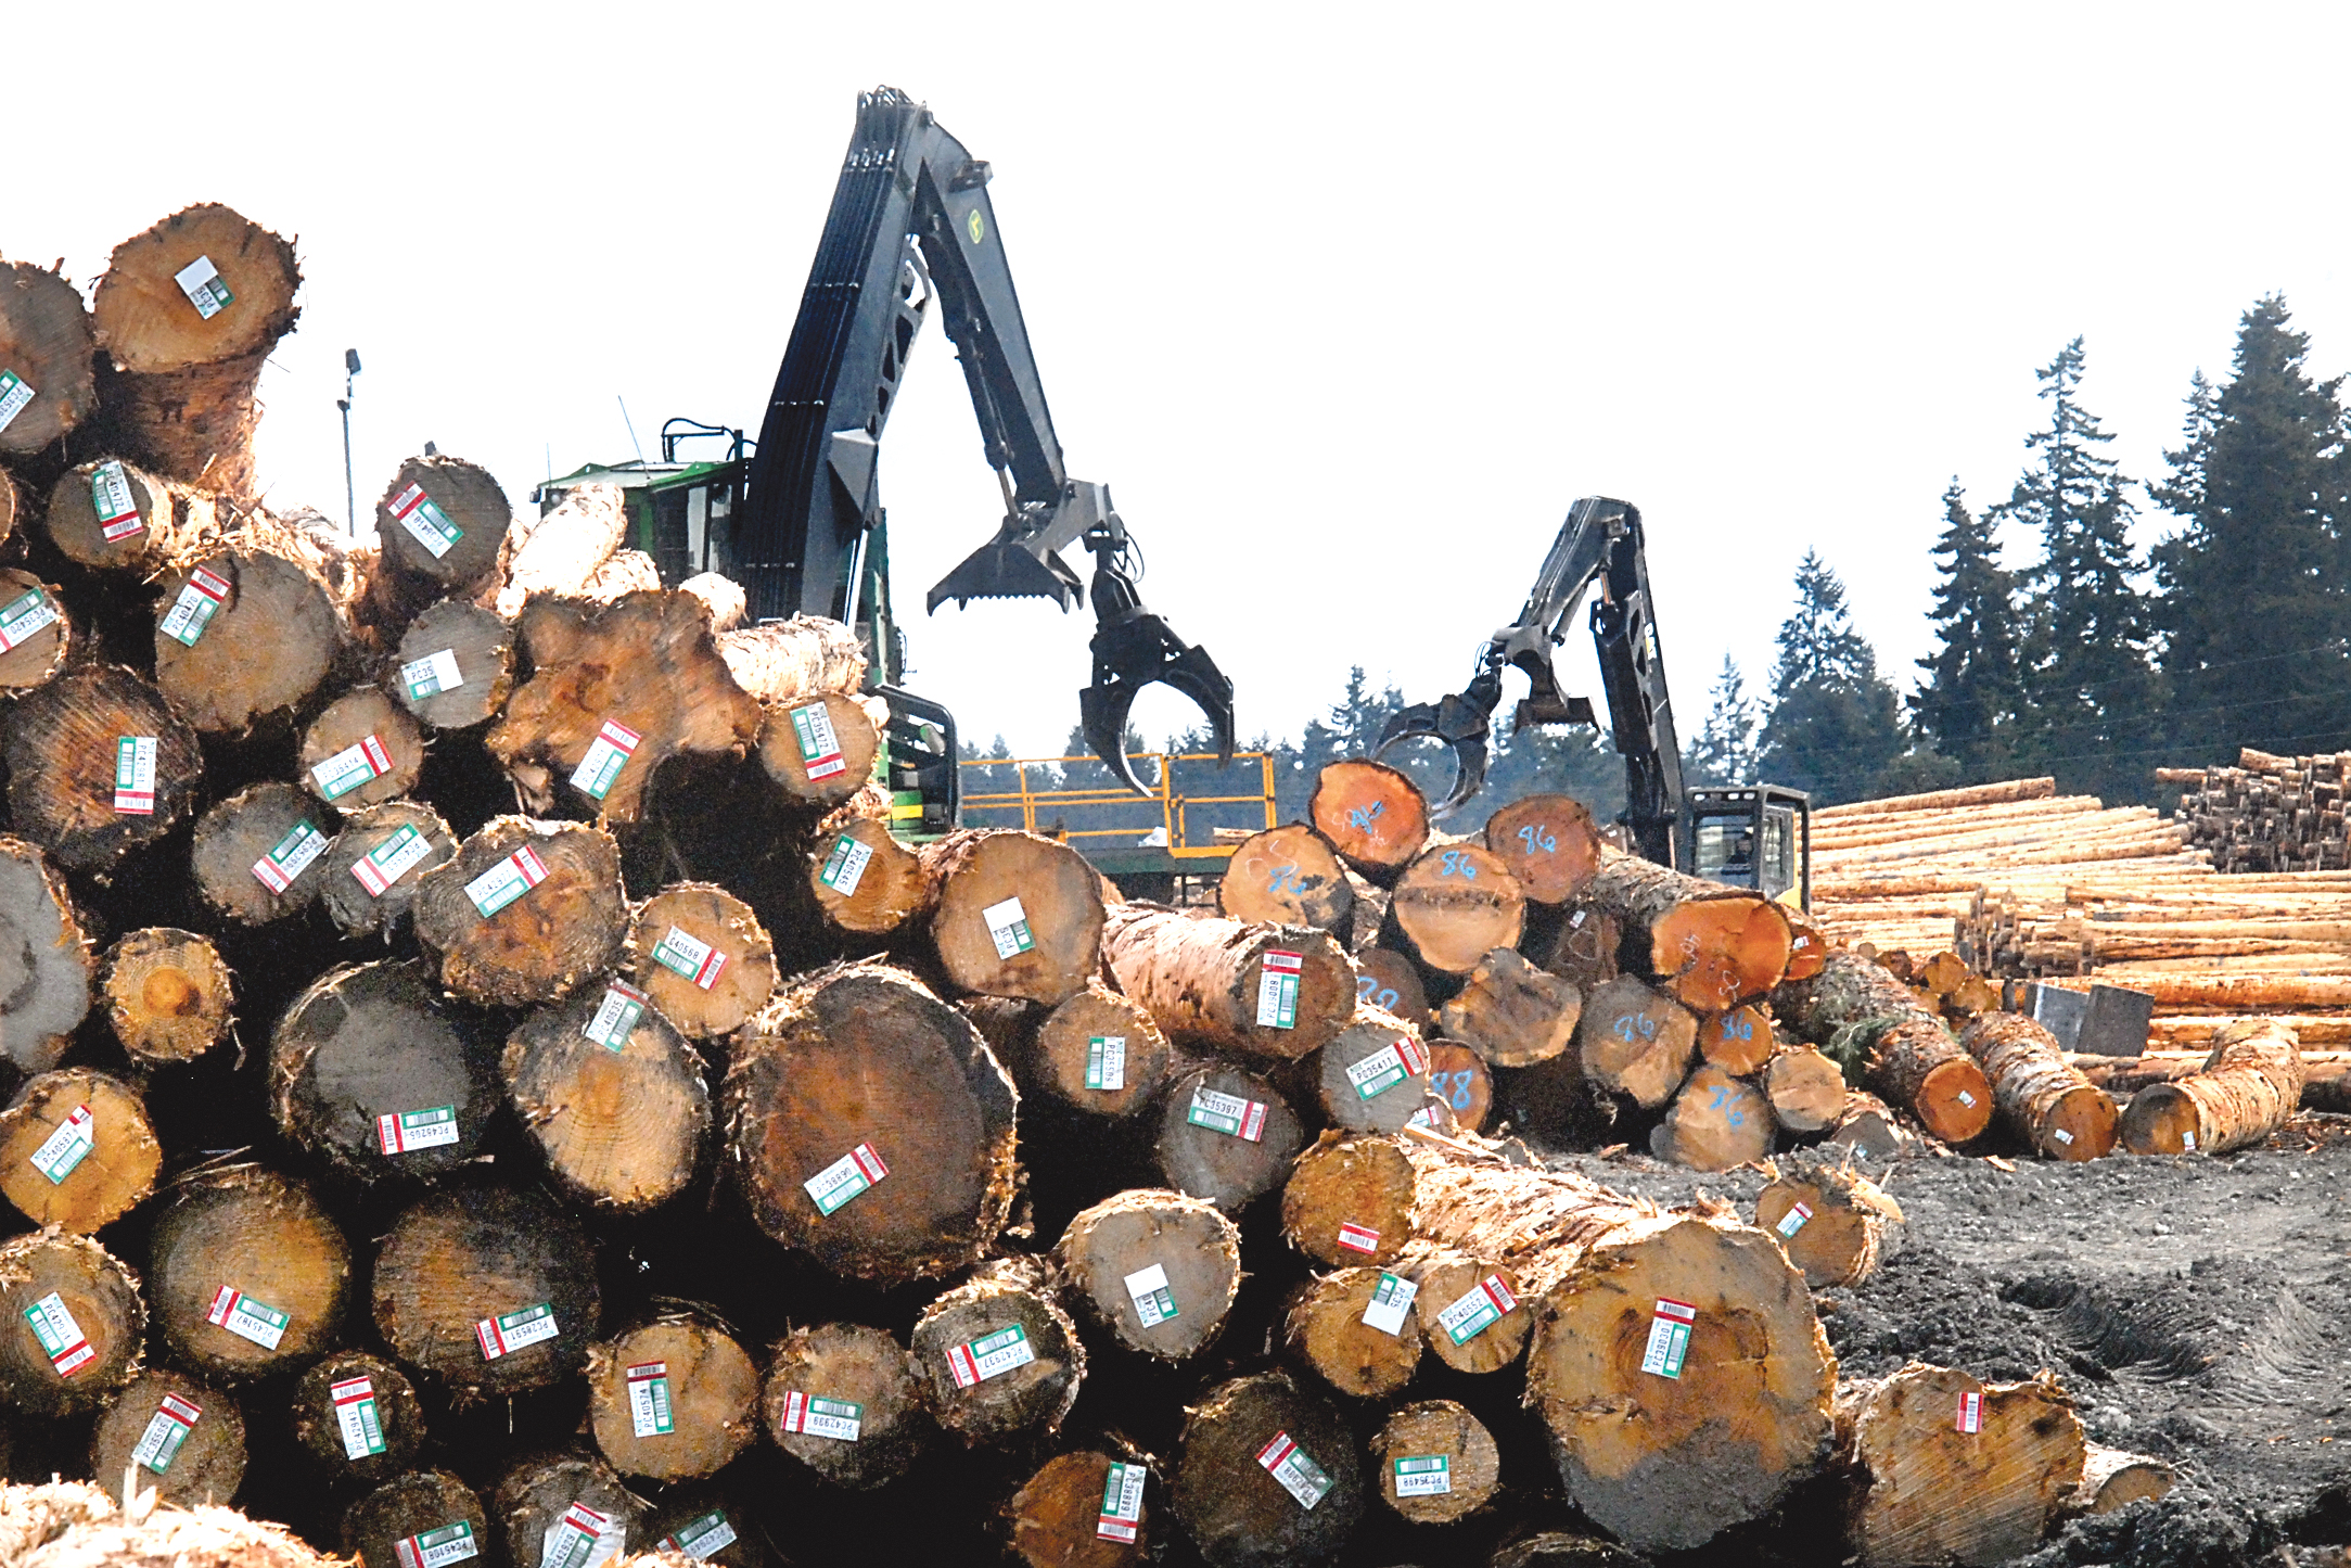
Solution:
M 621 983 L 543 1006 L 505 1039 L 505 1093 L 564 1192 L 595 1208 L 668 1204 L 710 1138 L 703 1063 Z

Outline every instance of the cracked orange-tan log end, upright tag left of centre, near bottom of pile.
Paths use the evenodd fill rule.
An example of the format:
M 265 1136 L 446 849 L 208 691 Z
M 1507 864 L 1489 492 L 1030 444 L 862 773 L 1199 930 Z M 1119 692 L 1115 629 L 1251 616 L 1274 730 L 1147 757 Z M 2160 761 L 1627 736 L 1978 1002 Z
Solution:
M 759 1436 L 759 1368 L 729 1333 L 663 1316 L 588 1352 L 588 1425 L 623 1476 L 712 1476 Z

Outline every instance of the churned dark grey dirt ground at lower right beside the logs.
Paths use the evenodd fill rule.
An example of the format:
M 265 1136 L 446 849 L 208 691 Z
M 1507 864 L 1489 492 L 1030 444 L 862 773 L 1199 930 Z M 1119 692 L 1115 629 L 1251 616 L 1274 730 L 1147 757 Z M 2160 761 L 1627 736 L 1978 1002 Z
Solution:
M 1763 1187 L 1639 1154 L 1556 1164 L 1749 1213 Z M 1862 1288 L 1822 1293 L 1843 1375 L 2048 1368 L 2092 1441 L 2179 1469 L 2170 1497 L 2069 1526 L 2031 1568 L 2351 1561 L 2351 1117 L 2304 1114 L 2222 1159 L 2008 1164 L 1867 1161 L 1909 1237 Z

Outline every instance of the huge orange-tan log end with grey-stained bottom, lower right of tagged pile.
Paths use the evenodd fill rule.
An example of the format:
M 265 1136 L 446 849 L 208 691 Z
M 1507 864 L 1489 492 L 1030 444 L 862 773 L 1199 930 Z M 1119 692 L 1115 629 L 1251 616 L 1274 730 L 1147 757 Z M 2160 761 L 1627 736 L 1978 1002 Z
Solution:
M 1834 1387 L 1777 1241 L 1697 1215 L 1634 1220 L 1575 1260 L 1526 1363 L 1568 1500 L 1643 1552 L 1702 1547 L 1777 1507 L 1829 1458 Z

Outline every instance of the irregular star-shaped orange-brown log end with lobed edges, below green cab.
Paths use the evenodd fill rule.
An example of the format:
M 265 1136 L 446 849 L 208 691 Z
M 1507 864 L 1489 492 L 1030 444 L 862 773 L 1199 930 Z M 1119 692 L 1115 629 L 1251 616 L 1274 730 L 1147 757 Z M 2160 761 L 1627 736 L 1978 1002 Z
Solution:
M 665 759 L 741 757 L 759 736 L 759 703 L 726 672 L 689 592 L 637 590 L 609 604 L 541 597 L 524 607 L 520 635 L 531 679 L 482 741 L 541 811 L 562 797 L 635 823 Z

